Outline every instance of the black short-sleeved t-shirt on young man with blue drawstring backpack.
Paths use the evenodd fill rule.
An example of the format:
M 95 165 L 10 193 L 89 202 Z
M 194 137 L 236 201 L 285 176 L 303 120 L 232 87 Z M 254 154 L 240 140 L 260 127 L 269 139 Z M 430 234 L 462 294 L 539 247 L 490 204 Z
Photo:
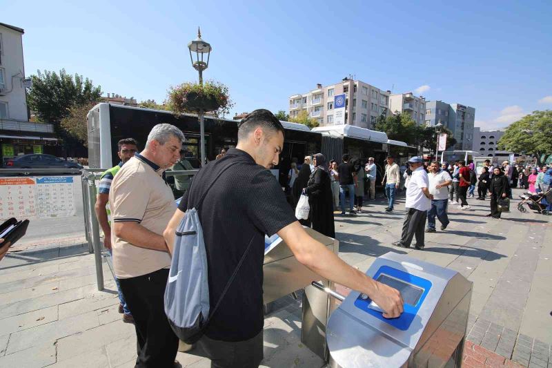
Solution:
M 233 164 L 237 162 L 237 164 Z M 255 164 L 248 153 L 230 148 L 195 175 L 179 209 L 197 206 L 201 195 L 217 179 L 196 207 L 207 250 L 211 308 L 219 300 L 249 242 L 253 242 L 241 269 L 206 329 L 214 340 L 242 341 L 262 331 L 264 235 L 273 235 L 297 221 L 276 178 Z

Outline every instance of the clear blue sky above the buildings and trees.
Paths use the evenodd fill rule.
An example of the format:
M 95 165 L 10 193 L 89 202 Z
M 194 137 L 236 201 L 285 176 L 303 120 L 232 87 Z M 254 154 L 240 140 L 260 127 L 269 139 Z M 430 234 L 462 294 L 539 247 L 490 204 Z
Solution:
M 288 96 L 346 75 L 394 93 L 476 109 L 503 127 L 552 109 L 552 1 L 13 1 L 26 75 L 65 68 L 104 93 L 166 98 L 197 80 L 187 43 L 213 46 L 207 79 L 234 113 L 285 110 Z

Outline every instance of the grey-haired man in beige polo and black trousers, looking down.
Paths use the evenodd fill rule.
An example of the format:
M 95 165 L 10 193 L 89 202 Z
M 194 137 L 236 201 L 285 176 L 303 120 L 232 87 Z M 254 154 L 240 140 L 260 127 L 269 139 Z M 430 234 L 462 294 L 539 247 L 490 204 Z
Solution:
M 144 151 L 124 164 L 109 193 L 113 269 L 135 320 L 139 368 L 172 367 L 177 355 L 178 338 L 164 309 L 170 254 L 163 238 L 176 204 L 163 173 L 180 158 L 183 141 L 176 126 L 154 126 Z

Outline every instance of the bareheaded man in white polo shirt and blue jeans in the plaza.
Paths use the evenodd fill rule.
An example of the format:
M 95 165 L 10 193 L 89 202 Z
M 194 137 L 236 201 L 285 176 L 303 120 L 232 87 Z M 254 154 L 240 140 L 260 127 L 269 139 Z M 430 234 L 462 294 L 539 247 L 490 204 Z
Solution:
M 449 225 L 449 216 L 446 215 L 446 205 L 448 204 L 449 192 L 447 187 L 453 182 L 451 174 L 440 168 L 439 162 L 431 162 L 429 166 L 429 193 L 433 194 L 431 200 L 431 209 L 427 211 L 427 229 L 426 233 L 435 233 L 435 215 L 441 222 L 441 230 Z

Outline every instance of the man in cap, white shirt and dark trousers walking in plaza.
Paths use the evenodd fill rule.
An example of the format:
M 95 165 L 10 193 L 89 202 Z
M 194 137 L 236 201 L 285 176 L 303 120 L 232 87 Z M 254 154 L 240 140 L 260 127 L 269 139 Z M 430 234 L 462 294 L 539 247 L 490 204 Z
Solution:
M 424 170 L 422 157 L 412 157 L 408 160 L 412 175 L 406 185 L 406 217 L 402 225 L 401 240 L 393 242 L 393 245 L 401 248 L 410 248 L 412 238 L 416 235 L 416 249 L 424 249 L 424 226 L 426 224 L 427 211 L 431 209 L 433 194 L 429 193 L 429 179 Z

